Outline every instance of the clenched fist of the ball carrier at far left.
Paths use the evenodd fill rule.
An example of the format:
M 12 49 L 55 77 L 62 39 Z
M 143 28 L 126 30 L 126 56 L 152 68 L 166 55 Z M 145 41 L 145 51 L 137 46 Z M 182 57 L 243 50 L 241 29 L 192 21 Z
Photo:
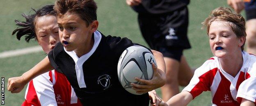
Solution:
M 11 77 L 8 79 L 7 90 L 11 91 L 11 93 L 19 93 L 26 84 L 27 83 L 22 76 Z

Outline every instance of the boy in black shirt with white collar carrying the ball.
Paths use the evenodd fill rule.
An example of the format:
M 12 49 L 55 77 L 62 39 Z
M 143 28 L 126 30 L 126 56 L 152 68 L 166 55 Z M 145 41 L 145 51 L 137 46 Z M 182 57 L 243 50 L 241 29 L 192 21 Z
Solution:
M 57 23 L 60 42 L 48 57 L 21 77 L 8 81 L 11 93 L 20 92 L 33 77 L 52 69 L 64 73 L 83 105 L 139 105 L 149 104 L 149 95 L 133 95 L 125 91 L 117 77 L 117 63 L 121 53 L 135 45 L 127 38 L 104 36 L 97 31 L 96 3 L 93 0 L 57 0 Z M 153 51 L 158 68 L 153 79 L 138 79 L 144 85 L 134 86 L 145 93 L 165 84 L 165 63 L 162 54 Z M 50 63 L 50 62 L 51 63 Z M 51 66 L 52 65 L 52 66 Z M 105 84 L 101 84 L 105 79 Z

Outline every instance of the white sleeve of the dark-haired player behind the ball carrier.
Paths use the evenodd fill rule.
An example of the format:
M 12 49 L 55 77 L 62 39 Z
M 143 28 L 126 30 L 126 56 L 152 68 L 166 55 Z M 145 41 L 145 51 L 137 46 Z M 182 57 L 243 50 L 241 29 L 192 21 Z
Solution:
M 53 77 L 53 79 L 54 78 L 55 77 Z M 50 81 L 49 72 L 35 77 L 33 79 L 33 85 L 41 106 L 57 106 L 53 83 Z

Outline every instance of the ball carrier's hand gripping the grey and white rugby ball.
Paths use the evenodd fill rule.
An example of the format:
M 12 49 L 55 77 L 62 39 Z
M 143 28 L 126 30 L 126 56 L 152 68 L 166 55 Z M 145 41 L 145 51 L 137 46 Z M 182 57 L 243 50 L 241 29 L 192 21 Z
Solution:
M 135 84 L 131 83 L 131 86 L 134 90 L 136 90 L 136 93 L 147 93 L 149 91 L 152 91 L 156 88 L 159 88 L 163 85 L 165 85 L 166 82 L 166 76 L 163 71 L 158 69 L 155 64 L 152 64 L 153 67 L 153 77 L 150 80 L 146 79 L 140 79 L 135 77 L 135 80 L 141 82 L 142 84 Z

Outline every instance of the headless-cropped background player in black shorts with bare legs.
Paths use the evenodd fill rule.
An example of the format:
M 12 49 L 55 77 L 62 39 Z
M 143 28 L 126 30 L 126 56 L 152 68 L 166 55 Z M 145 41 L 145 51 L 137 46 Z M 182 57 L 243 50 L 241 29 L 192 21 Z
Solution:
M 162 99 L 179 93 L 179 85 L 189 84 L 194 70 L 187 64 L 184 49 L 190 48 L 187 38 L 190 0 L 126 0 L 138 13 L 144 40 L 151 49 L 164 55 L 167 82 L 161 87 Z

